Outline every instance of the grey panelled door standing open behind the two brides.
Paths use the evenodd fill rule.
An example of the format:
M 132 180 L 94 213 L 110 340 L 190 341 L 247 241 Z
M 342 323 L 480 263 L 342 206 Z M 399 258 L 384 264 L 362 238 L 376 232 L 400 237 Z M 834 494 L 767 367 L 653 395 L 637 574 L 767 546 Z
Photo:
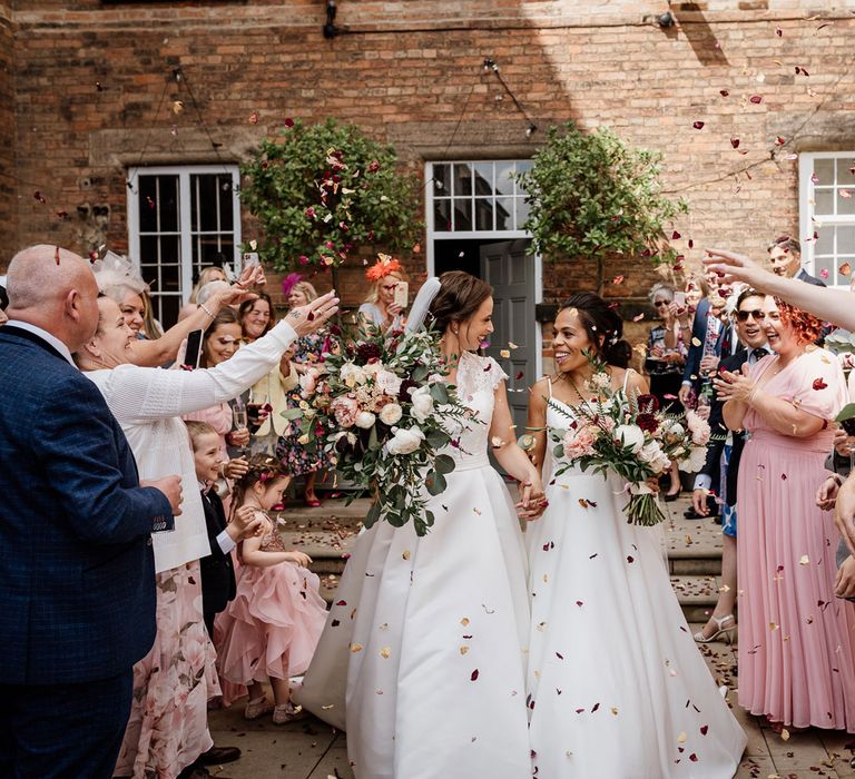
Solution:
M 481 278 L 495 290 L 493 326 L 487 353 L 509 375 L 508 401 L 517 425 L 517 437 L 524 433 L 528 388 L 538 379 L 538 337 L 534 314 L 534 257 L 528 238 L 484 244 L 481 247 Z M 514 344 L 517 348 L 511 348 Z M 501 352 L 510 349 L 510 357 Z

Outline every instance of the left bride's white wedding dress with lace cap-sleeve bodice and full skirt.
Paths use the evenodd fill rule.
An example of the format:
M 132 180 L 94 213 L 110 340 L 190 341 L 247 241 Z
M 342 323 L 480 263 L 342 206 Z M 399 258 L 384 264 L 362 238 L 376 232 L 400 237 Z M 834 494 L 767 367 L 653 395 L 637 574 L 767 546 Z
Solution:
M 449 447 L 456 469 L 431 499 L 435 524 L 379 522 L 357 539 L 295 699 L 341 723 L 357 779 L 523 779 L 529 633 L 525 550 L 488 458 L 491 358 L 464 353 L 458 391 L 483 424 Z M 344 672 L 346 663 L 346 674 Z

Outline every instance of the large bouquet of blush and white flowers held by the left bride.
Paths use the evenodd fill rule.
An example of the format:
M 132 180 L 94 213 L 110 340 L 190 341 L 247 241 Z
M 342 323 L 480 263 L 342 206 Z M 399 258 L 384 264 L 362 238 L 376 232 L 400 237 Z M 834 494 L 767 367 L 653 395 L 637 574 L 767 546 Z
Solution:
M 352 343 L 336 338 L 323 363 L 301 377 L 304 446 L 330 453 L 342 475 L 374 497 L 365 526 L 412 521 L 424 535 L 434 521 L 428 497 L 445 490 L 454 460 L 439 451 L 453 444 L 451 421 L 470 420 L 453 386 L 443 381 L 435 333 L 372 328 Z

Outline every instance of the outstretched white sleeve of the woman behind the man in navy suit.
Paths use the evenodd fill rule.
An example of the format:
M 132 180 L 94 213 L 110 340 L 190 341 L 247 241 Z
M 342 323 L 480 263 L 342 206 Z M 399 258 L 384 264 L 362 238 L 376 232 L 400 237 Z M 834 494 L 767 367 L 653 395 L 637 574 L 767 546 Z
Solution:
M 267 375 L 297 337 L 286 322 L 206 371 L 164 371 L 120 365 L 86 374 L 119 422 L 160 420 L 209 408 L 239 395 Z

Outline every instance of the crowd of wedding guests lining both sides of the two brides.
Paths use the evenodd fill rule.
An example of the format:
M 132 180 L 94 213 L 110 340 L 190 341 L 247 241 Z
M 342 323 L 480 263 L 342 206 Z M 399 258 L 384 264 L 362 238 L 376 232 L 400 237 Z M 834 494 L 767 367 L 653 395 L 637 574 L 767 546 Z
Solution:
M 721 588 L 695 640 L 738 621 L 743 707 L 778 729 L 855 732 L 855 436 L 835 423 L 855 397 L 823 347 L 855 308 L 802 269 L 793 238 L 770 244 L 768 270 L 710 255 L 650 289 L 660 324 L 643 361 L 660 404 L 714 431 L 687 516 L 721 523 Z M 402 267 L 383 258 L 367 278 L 361 326 L 400 328 Z M 289 679 L 326 609 L 276 515 L 292 480 L 321 505 L 332 469 L 287 412 L 317 378 L 338 299 L 294 275 L 277 322 L 263 283 L 257 267 L 233 283 L 206 268 L 164 329 L 117 255 L 94 269 L 52 246 L 11 260 L 0 775 L 198 778 L 239 757 L 213 743 L 212 702 L 248 693 L 247 719 L 299 717 Z M 674 465 L 662 495 L 681 490 Z

